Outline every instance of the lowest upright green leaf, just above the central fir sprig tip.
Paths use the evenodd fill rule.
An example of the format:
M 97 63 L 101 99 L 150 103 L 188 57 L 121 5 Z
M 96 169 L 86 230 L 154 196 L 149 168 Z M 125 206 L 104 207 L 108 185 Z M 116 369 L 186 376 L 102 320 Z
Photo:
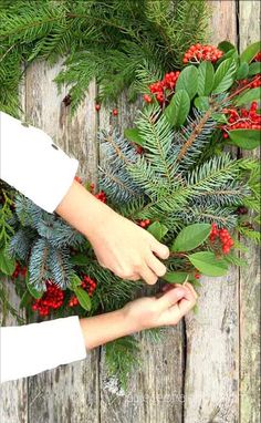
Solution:
M 189 109 L 190 100 L 188 93 L 185 90 L 180 90 L 174 94 L 170 104 L 165 109 L 164 113 L 173 126 L 179 127 L 186 121 Z

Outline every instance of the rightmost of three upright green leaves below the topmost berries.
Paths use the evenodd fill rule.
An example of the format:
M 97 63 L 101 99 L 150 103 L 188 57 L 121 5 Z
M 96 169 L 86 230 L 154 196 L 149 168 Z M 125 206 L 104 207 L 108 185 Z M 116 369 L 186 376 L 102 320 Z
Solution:
M 233 59 L 227 59 L 220 63 L 215 73 L 212 94 L 223 93 L 232 85 L 236 70 L 237 66 Z

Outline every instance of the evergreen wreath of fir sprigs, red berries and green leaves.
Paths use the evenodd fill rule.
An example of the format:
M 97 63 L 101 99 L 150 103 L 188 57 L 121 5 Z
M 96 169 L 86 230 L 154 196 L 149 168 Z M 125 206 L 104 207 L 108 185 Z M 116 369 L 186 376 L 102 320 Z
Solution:
M 9 23 L 8 30 L 0 32 L 0 39 L 6 40 L 0 75 L 10 69 L 14 56 L 18 65 L 21 59 L 55 60 L 61 51 L 70 50 L 65 45 L 72 44 L 67 68 L 56 80 L 75 83 L 70 92 L 73 111 L 93 76 L 102 86 L 97 113 L 101 101 L 114 101 L 124 87 L 144 94 L 135 127 L 124 134 L 115 130 L 100 134 L 106 157 L 100 168 L 100 190 L 92 182 L 79 182 L 169 246 L 171 254 L 165 262 L 168 271 L 161 278 L 166 282 L 189 280 L 198 287 L 201 275 L 223 276 L 230 265 L 244 265 L 234 251 L 244 249 L 238 235 L 259 240 L 253 227 L 259 223 L 259 163 L 232 157 L 228 146 L 252 149 L 259 145 L 260 42 L 249 45 L 241 55 L 227 41 L 218 48 L 200 42 L 191 45 L 194 40 L 200 41 L 196 35 L 198 24 L 205 28 L 203 1 L 114 0 L 90 1 L 87 6 L 83 1 L 61 1 L 58 10 L 51 8 L 53 1 L 44 6 L 39 1 L 36 16 L 35 2 L 33 12 L 30 1 L 25 10 L 22 3 L 10 6 L 7 1 L 8 7 L 0 12 Z M 191 32 L 184 34 L 188 9 L 194 18 L 197 10 L 203 13 L 198 16 L 197 25 L 188 25 Z M 95 21 L 98 17 L 101 28 Z M 174 20 L 163 33 L 160 22 L 167 18 Z M 81 50 L 84 37 L 87 42 L 95 41 L 92 50 Z M 101 50 L 108 47 L 106 42 L 113 65 L 102 72 Z M 85 53 L 93 60 L 87 62 Z M 95 70 L 86 71 L 93 63 Z M 18 70 L 14 73 L 1 94 L 1 109 L 12 114 L 18 111 L 15 93 L 21 76 Z M 64 317 L 112 311 L 146 288 L 143 281 L 122 280 L 102 268 L 81 234 L 4 184 L 0 270 L 13 280 L 29 320 L 35 313 Z M 0 296 L 15 313 L 6 299 L 4 283 Z M 108 372 L 126 389 L 127 375 L 138 362 L 138 341 L 129 336 L 109 342 L 105 349 Z

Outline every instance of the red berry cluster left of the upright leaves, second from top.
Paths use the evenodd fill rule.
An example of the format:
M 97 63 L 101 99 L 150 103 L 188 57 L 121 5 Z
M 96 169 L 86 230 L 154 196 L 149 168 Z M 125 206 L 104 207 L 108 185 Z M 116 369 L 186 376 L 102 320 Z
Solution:
M 149 85 L 150 93 L 156 96 L 159 104 L 165 103 L 167 97 L 173 94 L 179 73 L 179 71 L 166 73 L 161 81 L 154 82 Z M 145 94 L 144 101 L 146 103 L 152 103 L 153 97 Z

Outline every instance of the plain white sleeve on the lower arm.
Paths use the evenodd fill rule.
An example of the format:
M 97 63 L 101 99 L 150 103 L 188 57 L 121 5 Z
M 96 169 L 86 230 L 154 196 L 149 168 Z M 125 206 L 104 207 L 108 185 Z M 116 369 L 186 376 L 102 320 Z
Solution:
M 85 357 L 77 316 L 0 328 L 0 382 L 30 376 Z

